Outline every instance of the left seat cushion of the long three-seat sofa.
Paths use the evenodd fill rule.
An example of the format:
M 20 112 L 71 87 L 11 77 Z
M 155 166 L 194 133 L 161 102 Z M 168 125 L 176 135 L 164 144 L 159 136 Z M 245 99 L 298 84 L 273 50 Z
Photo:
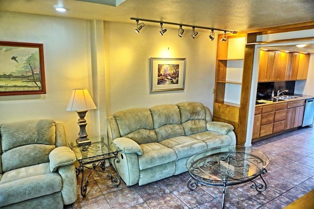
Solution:
M 143 151 L 143 155 L 138 156 L 140 170 L 172 162 L 177 158 L 173 149 L 156 142 L 141 144 L 140 147 Z

